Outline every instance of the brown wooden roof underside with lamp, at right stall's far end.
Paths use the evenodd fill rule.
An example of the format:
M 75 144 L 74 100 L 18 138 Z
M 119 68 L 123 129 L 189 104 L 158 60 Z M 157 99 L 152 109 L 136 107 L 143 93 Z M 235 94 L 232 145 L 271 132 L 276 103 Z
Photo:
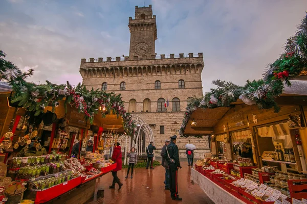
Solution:
M 230 107 L 195 110 L 186 126 L 184 135 L 209 135 L 213 133 L 213 126 L 220 120 Z M 196 125 L 191 124 L 195 120 Z

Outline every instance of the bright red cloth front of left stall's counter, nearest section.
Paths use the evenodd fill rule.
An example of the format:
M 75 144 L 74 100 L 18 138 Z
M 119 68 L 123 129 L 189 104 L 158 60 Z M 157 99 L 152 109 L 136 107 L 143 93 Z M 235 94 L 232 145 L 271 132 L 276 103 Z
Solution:
M 81 184 L 81 177 L 79 176 L 76 177 L 75 179 L 53 186 L 49 189 L 37 191 L 34 203 L 35 204 L 45 203 L 49 200 L 52 200 L 53 198 L 56 198 L 57 196 L 60 196 L 63 193 L 70 191 L 71 189 L 77 187 L 80 184 Z

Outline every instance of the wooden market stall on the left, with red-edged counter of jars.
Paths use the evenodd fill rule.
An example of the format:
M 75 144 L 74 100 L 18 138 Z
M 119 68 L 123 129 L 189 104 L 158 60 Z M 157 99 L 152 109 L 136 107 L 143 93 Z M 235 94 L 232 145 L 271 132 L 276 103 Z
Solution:
M 26 86 L 25 92 L 0 95 L 0 201 L 89 200 L 100 177 L 116 168 L 105 157 L 110 147 L 134 135 L 134 122 L 116 95 L 81 85 Z

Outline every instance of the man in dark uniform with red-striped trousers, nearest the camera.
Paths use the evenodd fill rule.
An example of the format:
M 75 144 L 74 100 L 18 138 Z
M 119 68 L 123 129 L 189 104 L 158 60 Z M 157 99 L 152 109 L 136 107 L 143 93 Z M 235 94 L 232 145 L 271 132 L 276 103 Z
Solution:
M 178 196 L 178 169 L 181 168 L 179 161 L 179 150 L 176 145 L 177 136 L 174 135 L 170 138 L 170 143 L 166 146 L 164 157 L 167 158 L 169 167 L 169 189 L 170 197 L 173 200 L 182 200 Z

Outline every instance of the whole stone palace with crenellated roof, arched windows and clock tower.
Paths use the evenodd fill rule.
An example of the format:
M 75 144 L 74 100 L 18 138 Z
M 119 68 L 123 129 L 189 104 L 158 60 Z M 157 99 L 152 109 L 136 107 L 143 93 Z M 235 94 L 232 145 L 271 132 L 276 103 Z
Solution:
M 129 56 L 81 59 L 80 73 L 86 88 L 101 88 L 121 94 L 125 109 L 140 116 L 152 129 L 156 156 L 160 156 L 165 139 L 179 136 L 189 97 L 203 95 L 203 54 L 156 55 L 157 26 L 151 5 L 136 6 L 135 19 L 129 17 L 128 27 Z M 166 108 L 165 101 L 168 104 Z M 124 141 L 120 143 L 124 144 Z M 210 151 L 207 137 L 179 137 L 177 144 L 181 157 L 186 157 L 187 143 L 198 147 L 195 158 Z M 144 138 L 143 152 L 147 145 L 148 141 Z

